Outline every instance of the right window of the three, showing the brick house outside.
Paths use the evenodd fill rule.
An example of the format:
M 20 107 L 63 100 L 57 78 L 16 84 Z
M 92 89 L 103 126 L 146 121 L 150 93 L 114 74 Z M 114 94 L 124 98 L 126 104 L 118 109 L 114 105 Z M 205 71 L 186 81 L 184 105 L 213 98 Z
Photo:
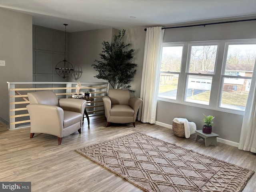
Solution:
M 226 52 L 220 107 L 244 111 L 256 58 L 256 44 L 227 43 Z

